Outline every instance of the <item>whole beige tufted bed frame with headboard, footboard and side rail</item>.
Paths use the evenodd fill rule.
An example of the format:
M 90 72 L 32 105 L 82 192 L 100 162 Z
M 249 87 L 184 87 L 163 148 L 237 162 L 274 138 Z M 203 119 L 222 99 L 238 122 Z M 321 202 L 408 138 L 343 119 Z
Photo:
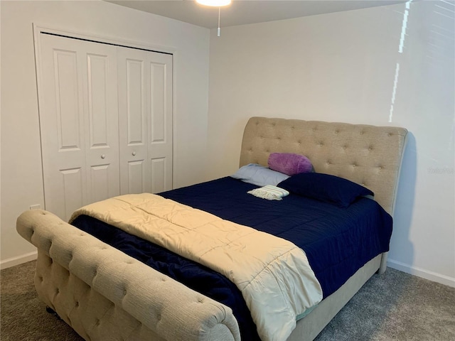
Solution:
M 406 137 L 406 129 L 390 126 L 252 117 L 245 126 L 240 166 L 267 165 L 274 151 L 301 153 L 317 172 L 373 190 L 375 200 L 392 215 Z M 17 230 L 38 248 L 38 296 L 85 340 L 240 340 L 230 308 L 50 212 L 23 212 Z M 386 254 L 365 264 L 299 320 L 288 340 L 313 340 L 385 266 Z

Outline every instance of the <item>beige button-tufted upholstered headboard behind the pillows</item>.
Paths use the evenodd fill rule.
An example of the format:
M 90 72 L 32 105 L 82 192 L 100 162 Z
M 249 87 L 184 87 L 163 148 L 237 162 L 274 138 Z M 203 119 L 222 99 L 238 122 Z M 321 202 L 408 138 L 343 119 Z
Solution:
M 299 119 L 252 117 L 245 126 L 240 166 L 267 166 L 269 154 L 298 153 L 314 170 L 373 190 L 375 200 L 393 215 L 407 129 Z

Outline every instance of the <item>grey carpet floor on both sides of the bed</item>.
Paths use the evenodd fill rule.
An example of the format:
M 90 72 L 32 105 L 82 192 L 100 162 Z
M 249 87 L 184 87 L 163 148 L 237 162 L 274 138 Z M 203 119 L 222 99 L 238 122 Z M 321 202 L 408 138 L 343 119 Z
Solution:
M 35 263 L 1 271 L 1 340 L 82 340 L 46 313 L 33 286 Z M 389 268 L 370 278 L 316 340 L 454 341 L 455 288 Z

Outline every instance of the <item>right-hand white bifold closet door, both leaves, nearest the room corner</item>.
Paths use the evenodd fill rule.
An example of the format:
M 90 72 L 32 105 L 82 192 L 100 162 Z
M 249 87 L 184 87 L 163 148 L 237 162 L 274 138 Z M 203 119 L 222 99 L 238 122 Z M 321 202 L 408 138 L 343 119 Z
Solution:
M 172 188 L 172 56 L 118 48 L 120 192 Z

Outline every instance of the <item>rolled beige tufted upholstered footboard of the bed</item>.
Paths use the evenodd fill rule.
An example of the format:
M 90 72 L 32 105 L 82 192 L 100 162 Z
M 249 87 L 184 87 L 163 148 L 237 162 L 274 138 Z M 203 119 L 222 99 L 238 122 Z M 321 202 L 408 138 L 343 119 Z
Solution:
M 240 340 L 229 307 L 50 212 L 23 212 L 17 230 L 38 248 L 38 296 L 85 340 Z

